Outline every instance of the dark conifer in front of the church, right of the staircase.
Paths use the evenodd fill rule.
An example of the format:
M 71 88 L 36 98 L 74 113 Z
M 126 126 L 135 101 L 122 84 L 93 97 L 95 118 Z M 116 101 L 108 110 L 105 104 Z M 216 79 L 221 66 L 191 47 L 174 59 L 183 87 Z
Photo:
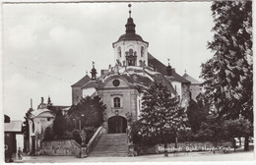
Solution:
M 160 82 L 154 82 L 143 92 L 137 139 L 143 143 L 164 143 L 164 156 L 167 156 L 167 142 L 173 136 L 177 142 L 178 132 L 185 128 L 187 121 L 184 109 L 178 106 L 177 100 Z

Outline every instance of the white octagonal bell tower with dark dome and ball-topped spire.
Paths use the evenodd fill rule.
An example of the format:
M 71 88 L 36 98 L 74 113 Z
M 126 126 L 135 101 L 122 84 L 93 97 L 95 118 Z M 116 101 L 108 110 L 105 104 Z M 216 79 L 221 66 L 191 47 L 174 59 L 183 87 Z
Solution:
M 131 17 L 131 4 L 129 7 L 129 18 L 125 25 L 125 34 L 112 44 L 114 48 L 114 60 L 126 66 L 148 65 L 149 42 L 136 34 L 136 25 Z

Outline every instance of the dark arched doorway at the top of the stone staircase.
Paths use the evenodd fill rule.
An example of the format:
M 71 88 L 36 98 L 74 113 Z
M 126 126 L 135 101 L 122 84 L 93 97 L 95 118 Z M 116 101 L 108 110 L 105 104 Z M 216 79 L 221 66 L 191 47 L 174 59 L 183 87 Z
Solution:
M 126 133 L 127 120 L 122 116 L 113 116 L 108 119 L 108 133 Z

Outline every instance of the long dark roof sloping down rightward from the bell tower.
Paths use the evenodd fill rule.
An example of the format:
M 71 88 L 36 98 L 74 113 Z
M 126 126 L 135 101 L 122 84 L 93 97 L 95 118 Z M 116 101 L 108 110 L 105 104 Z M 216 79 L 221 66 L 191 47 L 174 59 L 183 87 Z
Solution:
M 158 59 L 156 59 L 152 54 L 148 53 L 148 64 L 150 67 L 154 68 L 158 72 L 160 72 L 162 75 L 166 76 L 166 66 L 162 64 Z M 173 82 L 180 82 L 180 83 L 190 83 L 186 79 L 182 78 L 180 75 L 178 75 L 175 70 L 171 71 L 171 77 L 166 77 L 169 81 Z

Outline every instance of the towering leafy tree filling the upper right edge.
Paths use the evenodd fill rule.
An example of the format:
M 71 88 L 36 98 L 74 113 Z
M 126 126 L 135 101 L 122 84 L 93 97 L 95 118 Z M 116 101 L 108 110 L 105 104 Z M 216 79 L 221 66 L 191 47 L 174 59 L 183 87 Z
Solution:
M 242 115 L 253 123 L 252 2 L 217 1 L 212 12 L 215 34 L 208 48 L 215 54 L 201 75 L 206 96 L 220 116 Z

